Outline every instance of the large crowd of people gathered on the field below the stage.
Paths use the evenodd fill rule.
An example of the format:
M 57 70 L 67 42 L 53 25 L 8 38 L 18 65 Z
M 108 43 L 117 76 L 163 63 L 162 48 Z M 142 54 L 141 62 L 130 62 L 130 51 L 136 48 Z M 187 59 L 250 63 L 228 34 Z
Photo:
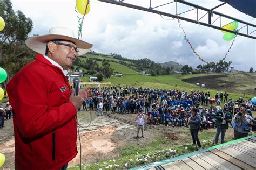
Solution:
M 109 86 L 102 88 L 92 88 L 92 97 L 83 102 L 84 110 L 89 105 L 91 110 L 98 110 L 98 115 L 103 112 L 116 112 L 120 114 L 138 114 L 138 131 L 143 132 L 141 119 L 145 119 L 149 124 L 163 124 L 165 126 L 190 128 L 193 144 L 198 144 L 198 131 L 209 128 L 216 128 L 214 143 L 225 142 L 225 132 L 231 125 L 234 129 L 234 138 L 248 136 L 250 127 L 255 126 L 252 116 L 251 100 L 240 97 L 233 101 L 228 94 L 218 92 L 214 98 L 216 104 L 210 104 L 210 92 L 180 91 L 177 89 L 151 89 L 134 87 Z M 192 101 L 184 107 L 181 103 L 173 104 L 172 101 Z M 221 102 L 226 102 L 223 109 L 219 106 Z M 140 120 L 140 121 L 139 121 Z M 142 137 L 143 133 L 142 133 Z

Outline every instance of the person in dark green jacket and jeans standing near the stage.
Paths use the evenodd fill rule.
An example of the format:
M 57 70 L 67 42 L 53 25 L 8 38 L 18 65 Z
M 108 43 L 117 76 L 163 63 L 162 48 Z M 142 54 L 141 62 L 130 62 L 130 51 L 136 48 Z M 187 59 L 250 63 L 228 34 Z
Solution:
M 228 112 L 228 107 L 224 106 L 222 110 L 218 110 L 215 115 L 216 118 L 216 126 L 217 126 L 217 131 L 216 131 L 216 137 L 215 137 L 215 145 L 218 144 L 219 140 L 219 135 L 221 132 L 221 141 L 220 143 L 224 143 L 224 138 L 225 138 L 225 133 L 226 130 L 228 129 L 228 122 L 232 121 L 232 115 L 230 112 Z

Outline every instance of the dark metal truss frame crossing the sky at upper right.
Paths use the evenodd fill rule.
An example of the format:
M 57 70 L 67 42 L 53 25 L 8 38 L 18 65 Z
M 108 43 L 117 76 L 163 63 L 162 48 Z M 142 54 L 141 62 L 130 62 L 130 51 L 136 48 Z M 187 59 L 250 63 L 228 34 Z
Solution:
M 163 6 L 163 5 L 159 5 L 159 6 L 156 6 L 154 8 L 151 8 L 151 0 L 150 0 L 150 8 L 145 8 L 143 6 L 137 6 L 137 5 L 133 5 L 133 4 L 129 4 L 129 3 L 125 3 L 123 2 L 124 0 L 119 0 L 119 1 L 114 1 L 114 0 L 98 0 L 100 2 L 105 2 L 105 3 L 110 3 L 110 4 L 115 4 L 115 5 L 120 5 L 120 6 L 125 6 L 125 7 L 128 7 L 128 8 L 133 8 L 133 9 L 137 9 L 137 10 L 142 10 L 142 11 L 146 11 L 146 12 L 151 12 L 151 13 L 156 13 L 156 14 L 160 14 L 162 16 L 167 16 L 167 17 L 171 17 L 171 18 L 177 18 L 177 19 L 180 19 L 180 20 L 185 20 L 186 22 L 191 22 L 191 23 L 194 23 L 194 24 L 200 24 L 200 25 L 204 25 L 204 26 L 207 26 L 207 27 L 211 27 L 213 29 L 217 29 L 217 30 L 222 30 L 222 31 L 226 31 L 226 32 L 231 32 L 231 33 L 234 33 L 234 34 L 238 34 L 240 36 L 243 36 L 243 37 L 247 37 L 247 38 L 252 38 L 252 39 L 256 39 L 255 36 L 252 36 L 251 34 L 253 32 L 255 32 L 256 30 L 256 25 L 254 24 L 251 24 L 251 23 L 248 23 L 248 22 L 245 22 L 244 20 L 241 20 L 241 19 L 237 19 L 237 18 L 234 18 L 234 17 L 231 17 L 231 16 L 228 16 L 228 15 L 225 15 L 223 13 L 220 13 L 220 12 L 217 12 L 217 11 L 214 11 L 214 9 L 217 9 L 219 6 L 221 5 L 224 5 L 225 3 L 227 3 L 228 1 L 230 0 L 227 0 L 226 2 L 218 5 L 218 6 L 215 6 L 214 8 L 212 9 L 207 9 L 207 8 L 204 8 L 203 6 L 199 6 L 199 5 L 196 5 L 196 4 L 193 4 L 193 3 L 190 3 L 190 2 L 186 2 L 184 0 L 173 0 L 171 1 L 170 3 L 166 3 L 166 4 L 163 4 L 163 5 L 167 5 L 167 4 L 171 4 L 171 3 L 176 3 L 176 10 L 175 10 L 175 15 L 174 14 L 171 14 L 171 13 L 167 13 L 167 12 L 163 12 L 163 11 L 158 11 L 158 10 L 154 10 L 160 6 Z M 181 4 L 185 4 L 185 5 L 188 5 L 188 6 L 191 6 L 193 7 L 193 9 L 191 10 L 187 10 L 185 12 L 182 12 L 182 13 L 177 13 L 177 4 L 178 3 L 181 3 Z M 183 13 L 186 13 L 188 11 L 192 11 L 192 10 L 196 10 L 197 12 L 197 19 L 190 19 L 190 18 L 186 18 L 186 17 L 181 17 L 180 15 L 183 14 Z M 201 22 L 200 20 L 203 18 L 199 18 L 198 19 L 198 10 L 203 10 L 203 11 L 206 11 L 206 14 L 203 16 L 205 17 L 206 15 L 208 15 L 208 22 L 205 23 L 205 22 Z M 212 22 L 212 17 L 213 17 L 213 14 L 214 15 L 217 15 L 219 16 L 217 19 L 215 19 L 213 22 Z M 231 30 L 227 30 L 227 29 L 224 29 L 223 27 L 221 26 L 224 26 L 224 25 L 221 25 L 221 19 L 222 18 L 228 18 L 228 19 L 231 19 L 231 20 L 235 20 L 239 23 L 242 23 L 244 24 L 244 26 L 242 26 L 240 29 L 237 29 L 236 31 L 231 31 Z M 217 20 L 220 20 L 220 26 L 215 26 L 213 25 L 214 22 L 216 22 Z M 239 32 L 241 29 L 244 29 L 244 27 L 247 27 L 247 33 L 241 33 Z M 254 28 L 254 31 L 252 32 L 248 32 L 249 30 L 249 27 L 253 27 Z

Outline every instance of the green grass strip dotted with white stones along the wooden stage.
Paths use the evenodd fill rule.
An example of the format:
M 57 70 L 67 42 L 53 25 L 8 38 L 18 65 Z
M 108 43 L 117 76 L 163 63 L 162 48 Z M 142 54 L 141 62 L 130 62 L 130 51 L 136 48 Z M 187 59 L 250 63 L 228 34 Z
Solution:
M 213 146 L 212 141 L 201 141 L 203 148 Z M 119 155 L 113 160 L 105 160 L 93 164 L 86 164 L 86 169 L 125 169 L 146 165 L 151 162 L 165 160 L 186 153 L 197 151 L 197 146 L 183 144 L 172 146 L 172 140 L 167 138 L 158 138 L 140 146 L 129 145 L 119 150 Z M 130 166 L 125 167 L 129 162 Z M 79 167 L 70 167 L 69 169 L 79 169 Z

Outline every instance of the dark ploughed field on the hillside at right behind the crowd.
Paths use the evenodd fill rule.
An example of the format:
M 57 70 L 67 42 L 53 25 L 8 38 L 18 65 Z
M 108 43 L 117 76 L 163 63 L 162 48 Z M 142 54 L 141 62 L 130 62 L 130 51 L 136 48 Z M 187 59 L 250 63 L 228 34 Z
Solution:
M 256 95 L 256 74 L 248 73 L 228 73 L 219 75 L 208 75 L 201 77 L 193 77 L 183 79 L 191 84 L 205 84 L 208 89 L 216 89 L 219 91 L 228 91 L 232 93 L 241 93 L 248 95 Z

